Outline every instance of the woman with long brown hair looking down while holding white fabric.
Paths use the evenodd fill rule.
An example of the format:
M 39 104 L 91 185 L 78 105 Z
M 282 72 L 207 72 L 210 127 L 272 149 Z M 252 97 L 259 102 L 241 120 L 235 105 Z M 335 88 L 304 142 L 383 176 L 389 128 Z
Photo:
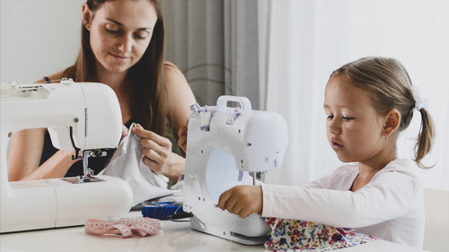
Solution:
M 163 62 L 163 37 L 163 18 L 155 0 L 88 0 L 83 5 L 82 45 L 75 65 L 40 82 L 70 77 L 75 82 L 109 85 L 119 99 L 123 124 L 139 124 L 135 134 L 142 137 L 145 165 L 176 181 L 185 162 L 164 137 L 165 119 L 172 132 L 185 139 L 189 105 L 195 98 L 179 69 Z M 89 160 L 95 174 L 112 152 Z M 11 143 L 9 180 L 83 174 L 82 162 L 73 161 L 72 155 L 55 149 L 46 129 L 23 130 Z

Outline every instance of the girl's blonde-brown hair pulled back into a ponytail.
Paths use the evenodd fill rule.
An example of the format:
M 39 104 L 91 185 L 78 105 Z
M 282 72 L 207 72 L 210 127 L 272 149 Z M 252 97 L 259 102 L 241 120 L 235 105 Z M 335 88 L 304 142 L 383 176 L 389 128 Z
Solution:
M 387 57 L 363 57 L 341 66 L 330 74 L 330 78 L 344 75 L 365 91 L 368 91 L 374 109 L 385 115 L 391 109 L 401 113 L 399 132 L 406 129 L 413 117 L 416 100 L 411 90 L 411 81 L 405 67 L 396 59 Z M 415 161 L 421 168 L 421 161 L 430 152 L 435 137 L 434 123 L 429 112 L 421 108 L 421 127 L 415 145 Z

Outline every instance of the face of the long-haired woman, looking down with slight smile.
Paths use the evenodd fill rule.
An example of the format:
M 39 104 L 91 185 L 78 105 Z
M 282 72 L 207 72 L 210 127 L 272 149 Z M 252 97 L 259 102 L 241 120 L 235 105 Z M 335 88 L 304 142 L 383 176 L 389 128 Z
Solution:
M 101 4 L 94 13 L 84 4 L 83 19 L 97 63 L 122 73 L 144 55 L 157 14 L 147 0 L 120 0 Z

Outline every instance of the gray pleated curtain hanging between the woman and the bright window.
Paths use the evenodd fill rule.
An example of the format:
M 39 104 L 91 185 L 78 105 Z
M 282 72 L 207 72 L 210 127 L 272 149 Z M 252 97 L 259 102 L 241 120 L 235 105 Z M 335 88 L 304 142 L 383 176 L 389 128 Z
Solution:
M 222 94 L 265 106 L 269 0 L 162 0 L 165 58 L 178 65 L 201 105 Z

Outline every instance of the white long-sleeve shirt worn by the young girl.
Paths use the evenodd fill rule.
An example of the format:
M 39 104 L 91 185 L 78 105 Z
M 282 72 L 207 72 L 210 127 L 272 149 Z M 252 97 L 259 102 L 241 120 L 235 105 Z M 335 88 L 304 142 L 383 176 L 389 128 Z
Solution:
M 263 217 L 348 227 L 379 239 L 422 248 L 424 193 L 409 160 L 394 160 L 365 187 L 350 187 L 357 164 L 344 165 L 305 187 L 262 184 Z

